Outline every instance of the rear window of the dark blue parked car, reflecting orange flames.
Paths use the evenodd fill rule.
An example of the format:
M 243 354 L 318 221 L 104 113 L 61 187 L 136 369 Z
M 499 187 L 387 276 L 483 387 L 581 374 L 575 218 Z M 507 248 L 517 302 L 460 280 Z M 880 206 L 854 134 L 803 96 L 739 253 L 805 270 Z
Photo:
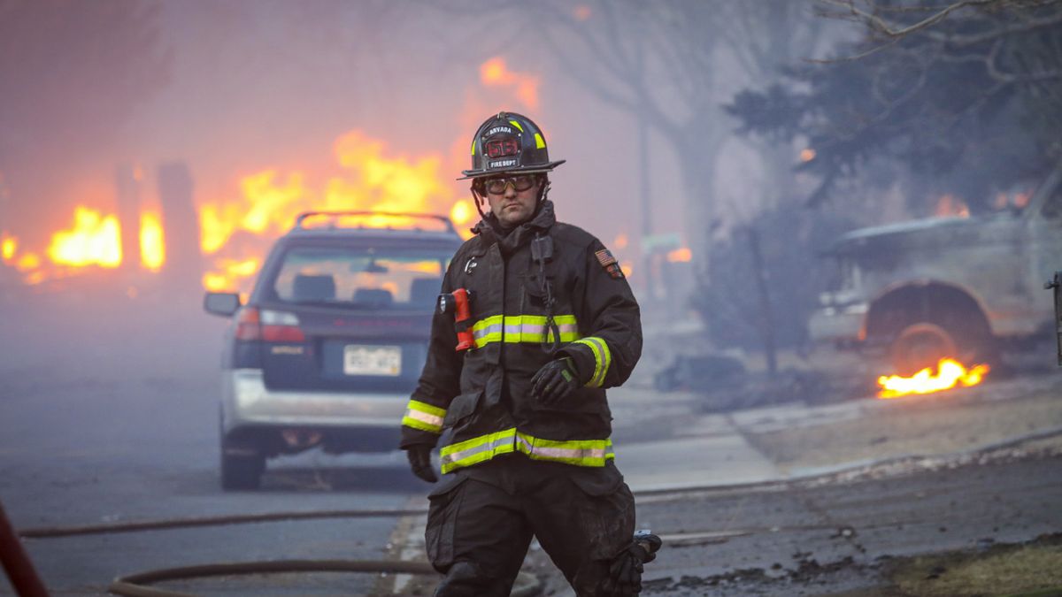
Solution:
M 431 309 L 451 256 L 445 250 L 292 248 L 272 289 L 286 303 Z

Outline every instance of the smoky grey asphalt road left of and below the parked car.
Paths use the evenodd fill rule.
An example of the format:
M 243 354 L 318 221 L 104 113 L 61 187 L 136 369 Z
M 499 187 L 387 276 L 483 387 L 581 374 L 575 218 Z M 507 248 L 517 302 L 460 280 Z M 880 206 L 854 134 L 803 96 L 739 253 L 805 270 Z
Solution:
M 271 461 L 258 492 L 218 483 L 220 320 L 195 309 L 4 309 L 0 500 L 17 529 L 287 511 L 400 509 L 424 496 L 401 453 Z M 10 307 L 10 306 L 8 306 Z M 64 310 L 65 307 L 69 310 Z M 79 308 L 80 307 L 80 308 Z M 58 315 L 56 313 L 59 313 Z M 423 499 L 416 500 L 416 504 Z M 383 559 L 394 518 L 156 530 L 24 542 L 54 595 L 119 575 L 216 562 Z M 234 595 L 367 594 L 369 574 L 228 580 Z M 296 587 L 296 589 L 292 589 Z M 0 594 L 11 594 L 0 581 Z

